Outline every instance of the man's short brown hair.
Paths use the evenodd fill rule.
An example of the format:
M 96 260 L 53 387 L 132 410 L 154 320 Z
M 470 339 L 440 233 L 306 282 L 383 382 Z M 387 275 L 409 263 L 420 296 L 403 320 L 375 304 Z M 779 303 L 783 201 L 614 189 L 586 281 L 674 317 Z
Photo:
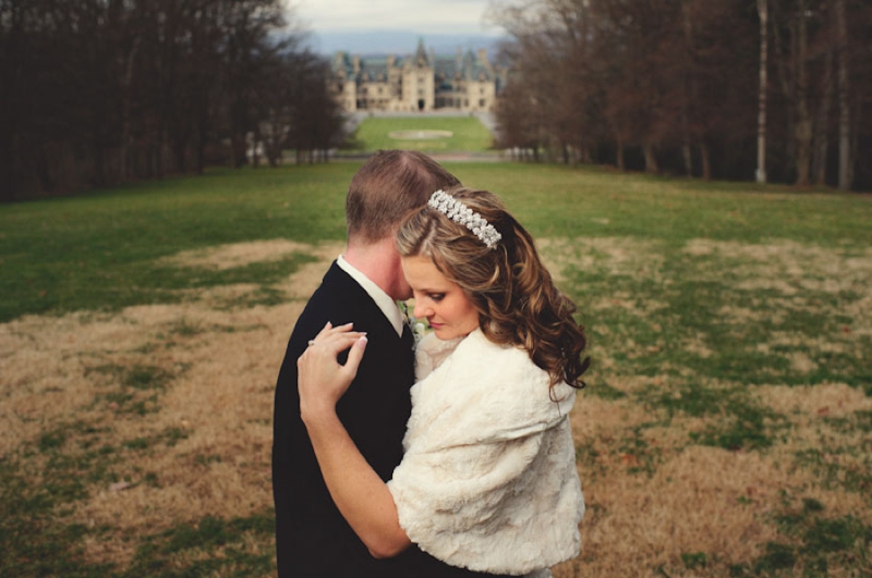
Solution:
M 349 241 L 375 243 L 393 235 L 402 218 L 440 188 L 460 184 L 415 150 L 379 150 L 354 174 L 346 197 Z

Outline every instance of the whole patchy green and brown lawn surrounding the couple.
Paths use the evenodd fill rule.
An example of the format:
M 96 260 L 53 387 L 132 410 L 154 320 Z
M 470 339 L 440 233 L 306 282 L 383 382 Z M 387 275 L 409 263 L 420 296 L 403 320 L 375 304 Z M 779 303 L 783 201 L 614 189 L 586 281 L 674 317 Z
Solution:
M 528 225 L 590 337 L 557 578 L 872 571 L 872 198 L 446 164 Z M 356 168 L 0 206 L 0 575 L 275 573 L 272 388 Z

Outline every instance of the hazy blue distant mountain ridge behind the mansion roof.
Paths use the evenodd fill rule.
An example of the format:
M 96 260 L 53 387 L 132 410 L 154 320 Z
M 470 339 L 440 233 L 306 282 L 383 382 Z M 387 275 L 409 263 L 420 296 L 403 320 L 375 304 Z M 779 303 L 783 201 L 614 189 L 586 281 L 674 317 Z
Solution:
M 460 47 L 464 51 L 485 48 L 492 57 L 502 39 L 484 34 L 421 34 L 399 30 L 313 32 L 310 46 L 315 52 L 325 56 L 343 50 L 362 57 L 385 54 L 399 57 L 414 53 L 420 38 L 424 39 L 427 51 L 433 48 L 438 54 L 455 53 Z

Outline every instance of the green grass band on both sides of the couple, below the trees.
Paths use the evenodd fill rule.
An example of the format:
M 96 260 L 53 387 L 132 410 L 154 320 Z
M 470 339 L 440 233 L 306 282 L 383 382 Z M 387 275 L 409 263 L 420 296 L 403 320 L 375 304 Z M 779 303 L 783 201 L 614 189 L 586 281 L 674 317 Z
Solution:
M 367 122 L 383 120 L 404 119 Z M 290 274 L 304 257 L 196 274 L 161 266 L 157 259 L 253 239 L 341 239 L 343 197 L 356 167 L 343 162 L 216 170 L 204 177 L 2 206 L 0 321 L 25 313 L 169 303 L 181 298 L 184 288 L 268 282 Z M 846 250 L 868 247 L 872 241 L 872 204 L 867 197 L 562 167 L 448 167 L 465 184 L 502 196 L 537 236 L 635 236 L 670 247 L 697 237 L 744 243 L 774 237 Z M 676 254 L 666 266 L 680 274 L 694 267 L 693 261 Z M 724 267 L 728 270 L 729 263 Z M 688 298 L 703 295 L 699 288 L 688 285 Z M 262 295 L 266 304 L 280 298 Z

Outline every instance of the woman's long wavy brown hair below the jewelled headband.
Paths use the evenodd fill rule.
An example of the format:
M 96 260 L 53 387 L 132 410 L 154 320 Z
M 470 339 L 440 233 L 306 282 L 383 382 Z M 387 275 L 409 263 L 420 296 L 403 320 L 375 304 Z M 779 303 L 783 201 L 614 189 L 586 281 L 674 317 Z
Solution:
M 409 213 L 397 232 L 402 256 L 427 256 L 457 283 L 479 311 L 479 325 L 494 343 L 523 347 L 550 376 L 550 386 L 565 381 L 584 386 L 590 365 L 582 359 L 584 328 L 576 305 L 554 285 L 533 237 L 487 190 L 461 185 L 446 189 L 481 214 L 502 238 L 491 249 L 465 225 L 424 206 Z

